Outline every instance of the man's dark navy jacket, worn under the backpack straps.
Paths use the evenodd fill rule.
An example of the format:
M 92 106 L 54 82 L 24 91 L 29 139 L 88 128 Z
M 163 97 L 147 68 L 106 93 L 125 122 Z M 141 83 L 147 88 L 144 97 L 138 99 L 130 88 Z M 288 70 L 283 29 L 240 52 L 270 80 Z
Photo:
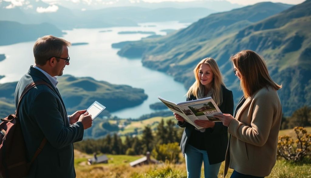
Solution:
M 73 142 L 83 138 L 83 125 L 69 125 L 67 112 L 58 92 L 50 80 L 38 69 L 30 67 L 17 83 L 15 105 L 22 91 L 33 81 L 44 80 L 53 90 L 42 84 L 29 90 L 20 102 L 19 119 L 30 161 L 44 137 L 47 138 L 42 152 L 30 168 L 29 177 L 76 177 L 73 162 Z

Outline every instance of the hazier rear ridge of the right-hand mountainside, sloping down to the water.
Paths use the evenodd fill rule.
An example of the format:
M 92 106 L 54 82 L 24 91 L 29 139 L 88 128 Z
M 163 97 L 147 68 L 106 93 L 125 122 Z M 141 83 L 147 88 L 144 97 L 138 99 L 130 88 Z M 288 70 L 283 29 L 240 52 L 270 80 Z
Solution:
M 154 59 L 157 61 L 162 59 L 160 60 L 161 62 L 173 60 L 178 57 L 185 58 L 201 49 L 201 45 L 207 44 L 207 40 L 209 39 L 238 31 L 243 27 L 279 13 L 289 7 L 290 5 L 281 3 L 262 2 L 229 12 L 211 14 L 187 28 L 159 40 L 144 40 L 126 45 L 118 54 L 127 57 L 129 53 L 137 51 L 137 48 L 142 48 L 143 50 L 137 55 L 144 54 L 144 61 L 149 59 L 148 57 L 150 55 L 151 59 L 159 55 L 164 55 L 163 57 L 165 58 L 159 57 Z M 196 46 L 193 46 L 195 44 Z M 148 64 L 146 65 L 148 66 Z M 161 65 L 157 66 L 157 69 L 161 70 Z

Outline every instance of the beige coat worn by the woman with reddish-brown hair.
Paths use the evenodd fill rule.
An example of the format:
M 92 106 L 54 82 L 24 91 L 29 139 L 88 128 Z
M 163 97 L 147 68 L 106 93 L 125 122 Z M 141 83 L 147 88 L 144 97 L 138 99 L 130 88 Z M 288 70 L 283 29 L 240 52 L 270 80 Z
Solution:
M 252 176 L 268 176 L 276 162 L 282 107 L 275 89 L 249 96 L 228 127 L 224 177 L 228 167 Z

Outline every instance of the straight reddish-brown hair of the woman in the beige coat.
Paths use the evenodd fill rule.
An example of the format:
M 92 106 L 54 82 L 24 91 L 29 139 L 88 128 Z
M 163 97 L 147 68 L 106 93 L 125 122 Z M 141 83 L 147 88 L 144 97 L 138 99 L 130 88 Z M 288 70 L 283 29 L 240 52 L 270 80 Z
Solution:
M 241 88 L 244 97 L 253 95 L 263 87 L 271 86 L 279 90 L 282 85 L 276 84 L 270 77 L 263 57 L 251 50 L 243 50 L 230 57 L 241 75 Z

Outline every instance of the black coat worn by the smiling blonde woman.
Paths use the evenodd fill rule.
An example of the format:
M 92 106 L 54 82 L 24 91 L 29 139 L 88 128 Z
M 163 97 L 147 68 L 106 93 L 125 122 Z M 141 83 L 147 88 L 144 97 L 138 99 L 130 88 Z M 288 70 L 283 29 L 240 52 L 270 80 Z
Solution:
M 232 91 L 226 89 L 225 86 L 222 86 L 221 89 L 223 102 L 218 107 L 222 113 L 233 115 Z M 190 96 L 190 98 L 187 98 L 187 101 L 196 99 L 196 97 Z M 180 142 L 181 151 L 183 156 L 185 156 L 186 146 L 195 127 L 187 122 L 184 122 L 183 124 L 178 122 L 178 125 L 180 127 L 186 127 L 183 131 L 183 137 Z M 224 126 L 221 122 L 216 122 L 214 128 L 207 128 L 205 130 L 204 136 L 209 163 L 216 164 L 224 161 L 228 145 L 228 127 Z

